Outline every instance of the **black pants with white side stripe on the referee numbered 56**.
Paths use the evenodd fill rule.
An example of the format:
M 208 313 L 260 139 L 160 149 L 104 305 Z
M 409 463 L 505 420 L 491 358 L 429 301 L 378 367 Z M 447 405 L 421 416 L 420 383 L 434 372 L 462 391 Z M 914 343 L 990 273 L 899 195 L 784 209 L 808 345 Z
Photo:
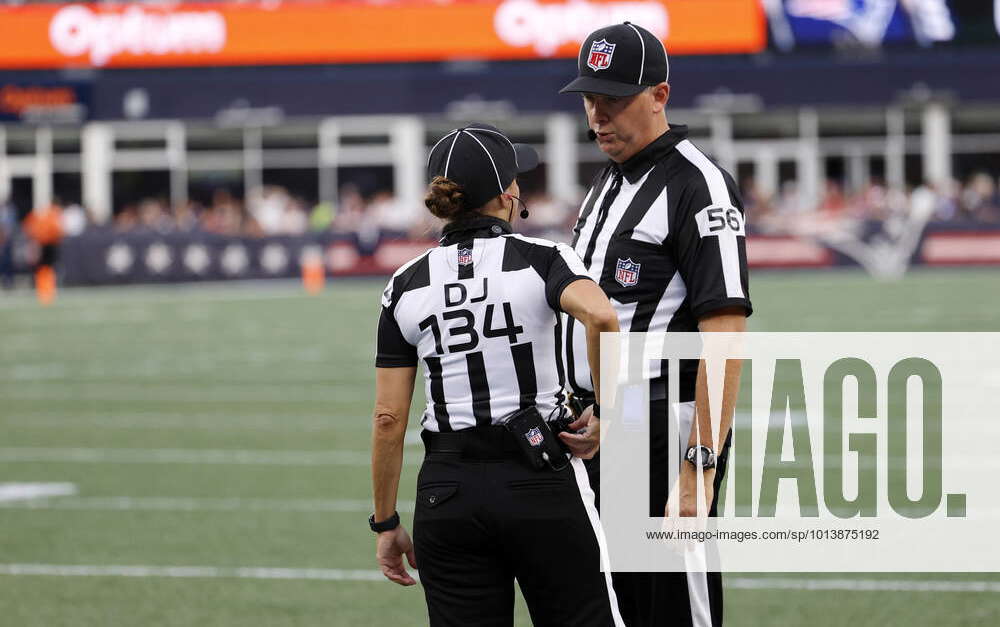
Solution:
M 667 402 L 652 401 L 650 417 L 649 515 L 663 516 L 670 494 L 669 464 L 676 464 L 677 444 L 667 442 Z M 687 438 L 687 433 L 681 434 Z M 709 515 L 715 516 L 719 488 L 726 474 L 731 437 L 716 462 L 715 496 Z M 584 462 L 591 485 L 600 494 L 600 454 Z M 598 496 L 598 504 L 600 498 Z M 610 547 L 614 551 L 614 546 Z M 721 627 L 722 573 L 612 573 L 618 607 L 628 627 Z

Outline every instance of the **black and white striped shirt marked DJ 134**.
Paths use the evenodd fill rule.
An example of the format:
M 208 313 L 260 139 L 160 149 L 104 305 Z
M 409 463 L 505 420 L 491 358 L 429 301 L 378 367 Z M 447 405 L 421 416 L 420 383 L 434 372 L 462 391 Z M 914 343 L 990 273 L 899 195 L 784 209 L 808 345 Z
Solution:
M 559 299 L 589 279 L 565 244 L 481 217 L 449 224 L 441 246 L 400 268 L 382 294 L 380 368 L 424 365 L 429 431 L 497 424 L 565 401 Z

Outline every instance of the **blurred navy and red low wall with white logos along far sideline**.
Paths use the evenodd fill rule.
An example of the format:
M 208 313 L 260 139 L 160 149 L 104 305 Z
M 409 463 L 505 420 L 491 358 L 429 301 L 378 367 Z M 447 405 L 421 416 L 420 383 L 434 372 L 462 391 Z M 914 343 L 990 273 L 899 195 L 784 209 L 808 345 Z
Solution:
M 60 276 L 67 285 L 287 278 L 298 275 L 303 251 L 321 253 L 331 276 L 387 276 L 434 246 L 436 240 L 394 237 L 361 245 L 330 233 L 249 238 L 92 230 L 63 243 Z M 921 250 L 914 259 L 919 265 L 1000 265 L 1000 233 L 932 233 Z M 851 263 L 815 242 L 792 237 L 750 236 L 747 259 L 753 269 Z

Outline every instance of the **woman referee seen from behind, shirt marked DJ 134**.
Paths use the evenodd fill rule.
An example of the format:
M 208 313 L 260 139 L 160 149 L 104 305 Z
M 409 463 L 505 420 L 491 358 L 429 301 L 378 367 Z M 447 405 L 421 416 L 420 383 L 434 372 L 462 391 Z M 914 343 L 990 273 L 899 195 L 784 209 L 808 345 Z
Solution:
M 515 579 L 535 625 L 623 624 L 580 459 L 597 450 L 599 424 L 567 426 L 559 346 L 566 312 L 600 364 L 600 333 L 617 331 L 617 316 L 569 247 L 513 233 L 515 215 L 527 217 L 515 177 L 537 164 L 485 124 L 442 137 L 424 199 L 446 222 L 441 245 L 382 294 L 369 524 L 387 578 L 415 583 L 404 554 L 419 567 L 433 626 L 512 625 Z M 418 361 L 426 454 L 411 542 L 396 495 Z

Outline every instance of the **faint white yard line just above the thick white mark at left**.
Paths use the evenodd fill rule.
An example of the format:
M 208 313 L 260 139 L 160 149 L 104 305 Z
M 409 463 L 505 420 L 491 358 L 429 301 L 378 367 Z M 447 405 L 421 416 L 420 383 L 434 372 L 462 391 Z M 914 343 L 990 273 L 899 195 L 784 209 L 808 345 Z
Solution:
M 419 464 L 409 456 L 406 464 Z M 0 463 L 232 464 L 251 466 L 368 466 L 365 451 L 267 451 L 144 448 L 0 448 Z

